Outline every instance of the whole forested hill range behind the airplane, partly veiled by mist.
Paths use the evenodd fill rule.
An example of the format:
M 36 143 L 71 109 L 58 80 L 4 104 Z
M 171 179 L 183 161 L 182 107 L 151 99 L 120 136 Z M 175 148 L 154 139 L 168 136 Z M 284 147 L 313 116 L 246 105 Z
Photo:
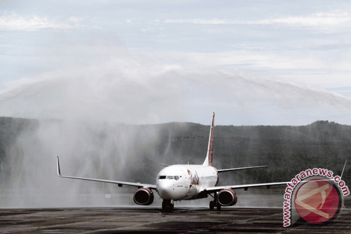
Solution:
M 154 183 L 161 163 L 202 164 L 209 130 L 209 125 L 196 123 L 124 125 L 0 117 L 0 181 L 24 179 L 31 169 L 47 167 L 60 156 L 72 163 L 66 174 Z M 217 125 L 213 158 L 219 169 L 269 166 L 228 173 L 221 183 L 289 181 L 314 167 L 341 174 L 348 159 L 343 179 L 350 185 L 351 126 L 329 121 L 306 126 Z

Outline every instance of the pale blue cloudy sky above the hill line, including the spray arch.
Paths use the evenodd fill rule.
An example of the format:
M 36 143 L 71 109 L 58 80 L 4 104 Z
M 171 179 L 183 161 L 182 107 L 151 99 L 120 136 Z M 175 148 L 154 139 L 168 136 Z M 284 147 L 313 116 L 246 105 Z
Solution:
M 0 1 L 0 115 L 351 124 L 347 1 Z

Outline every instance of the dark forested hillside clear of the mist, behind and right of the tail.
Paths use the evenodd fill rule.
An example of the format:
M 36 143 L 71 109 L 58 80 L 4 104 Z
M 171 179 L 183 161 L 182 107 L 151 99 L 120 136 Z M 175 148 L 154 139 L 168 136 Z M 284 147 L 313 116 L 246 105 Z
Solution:
M 175 132 L 176 128 L 181 130 Z M 176 133 L 172 138 L 173 150 L 184 161 L 202 163 L 209 126 L 167 123 L 162 129 L 164 144 L 172 129 Z M 240 176 L 234 176 L 236 179 L 248 176 L 244 182 L 289 181 L 300 171 L 314 167 L 340 175 L 345 159 L 349 161 L 343 178 L 351 178 L 351 126 L 335 122 L 316 121 L 306 126 L 217 125 L 213 151 L 217 168 L 269 165 L 265 169 L 237 172 Z

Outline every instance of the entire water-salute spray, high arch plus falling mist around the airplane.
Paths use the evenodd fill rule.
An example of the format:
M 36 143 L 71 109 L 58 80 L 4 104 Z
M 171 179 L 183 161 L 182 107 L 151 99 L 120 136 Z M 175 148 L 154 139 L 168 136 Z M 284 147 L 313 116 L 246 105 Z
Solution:
M 212 112 L 217 126 L 307 125 L 321 119 L 349 123 L 350 99 L 287 82 L 219 68 L 171 69 L 142 80 L 107 71 L 20 83 L 0 95 L 0 115 L 32 119 L 11 136 L 1 159 L 2 207 L 135 206 L 135 188 L 59 178 L 57 156 L 63 175 L 154 184 L 160 164 L 203 162 L 209 128 L 190 133 L 200 136 L 189 139 L 192 143 L 174 137 L 193 131 L 186 122 L 210 124 Z M 263 136 L 254 131 L 250 137 Z M 184 149 L 190 146 L 191 153 Z M 214 166 L 266 163 L 260 155 L 230 159 L 231 154 Z M 251 182 L 252 175 L 245 173 L 220 177 L 223 185 Z M 276 206 L 266 200 L 271 194 L 258 194 L 239 193 L 238 206 Z M 160 202 L 155 194 L 152 206 Z M 207 206 L 208 199 L 179 205 L 196 204 Z

